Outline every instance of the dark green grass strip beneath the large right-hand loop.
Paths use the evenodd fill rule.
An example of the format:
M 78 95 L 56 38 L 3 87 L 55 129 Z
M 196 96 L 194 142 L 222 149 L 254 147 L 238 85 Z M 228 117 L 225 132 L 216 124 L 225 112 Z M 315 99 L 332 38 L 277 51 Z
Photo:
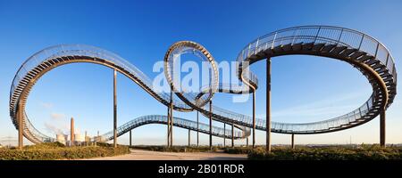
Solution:
M 402 160 L 401 147 L 381 148 L 379 145 L 306 147 L 295 150 L 289 147 L 273 147 L 267 153 L 264 147 L 247 150 L 251 160 Z

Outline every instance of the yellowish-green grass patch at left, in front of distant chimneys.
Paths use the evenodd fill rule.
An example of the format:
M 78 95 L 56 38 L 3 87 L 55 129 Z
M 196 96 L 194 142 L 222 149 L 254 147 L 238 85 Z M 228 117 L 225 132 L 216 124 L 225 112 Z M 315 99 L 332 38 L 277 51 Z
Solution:
M 111 157 L 130 153 L 129 147 L 119 145 L 113 148 L 110 144 L 97 146 L 65 147 L 58 142 L 25 146 L 22 150 L 0 149 L 0 160 L 54 160 Z

